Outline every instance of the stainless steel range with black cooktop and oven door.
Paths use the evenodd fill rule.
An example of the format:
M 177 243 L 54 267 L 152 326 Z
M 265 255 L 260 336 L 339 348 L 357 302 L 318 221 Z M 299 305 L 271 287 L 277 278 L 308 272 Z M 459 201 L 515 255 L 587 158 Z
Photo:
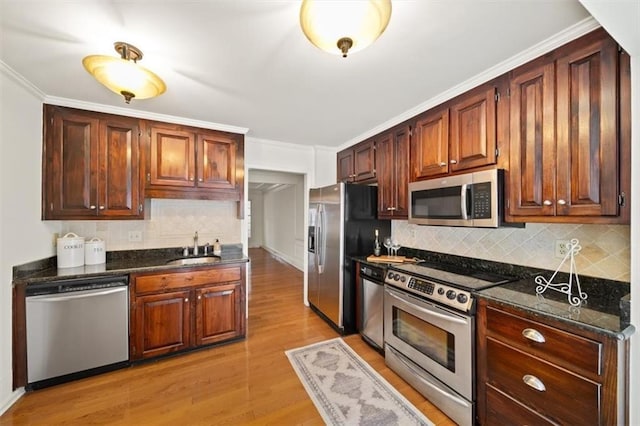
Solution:
M 475 424 L 475 298 L 509 278 L 451 265 L 391 266 L 386 364 L 460 425 Z

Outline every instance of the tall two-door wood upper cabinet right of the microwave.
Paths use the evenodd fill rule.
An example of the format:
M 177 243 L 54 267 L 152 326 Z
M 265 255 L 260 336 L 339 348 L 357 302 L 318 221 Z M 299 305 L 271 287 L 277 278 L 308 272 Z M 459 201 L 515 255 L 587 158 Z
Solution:
M 512 72 L 511 220 L 628 220 L 620 63 L 615 41 L 597 30 Z

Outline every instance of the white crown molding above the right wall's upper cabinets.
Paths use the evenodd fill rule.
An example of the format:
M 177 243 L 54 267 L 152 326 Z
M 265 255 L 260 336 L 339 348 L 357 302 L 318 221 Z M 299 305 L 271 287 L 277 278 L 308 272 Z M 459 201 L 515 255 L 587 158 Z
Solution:
M 526 49 L 505 61 L 500 62 L 499 64 L 477 74 L 476 76 L 463 81 L 462 83 L 453 86 L 452 88 L 445 90 L 444 92 L 432 97 L 431 99 L 411 108 L 410 110 L 393 117 L 390 120 L 385 121 L 379 126 L 374 127 L 373 129 L 362 133 L 361 135 L 345 142 L 344 144 L 338 147 L 338 151 L 348 148 L 355 143 L 361 142 L 371 136 L 375 136 L 380 132 L 383 132 L 397 124 L 402 123 L 410 118 L 415 117 L 416 115 L 433 108 L 434 106 L 440 105 L 443 102 L 448 101 L 449 99 L 453 99 L 456 96 L 465 93 L 466 91 L 473 89 L 487 81 L 496 78 L 506 72 L 509 72 L 520 65 L 523 65 L 545 53 L 552 51 L 572 40 L 575 40 L 578 37 L 581 37 L 596 28 L 599 28 L 600 24 L 593 17 L 588 17 L 583 19 L 582 21 L 566 28 L 559 33 L 554 34 L 546 40 L 541 41 L 538 44 L 531 46 L 529 49 Z

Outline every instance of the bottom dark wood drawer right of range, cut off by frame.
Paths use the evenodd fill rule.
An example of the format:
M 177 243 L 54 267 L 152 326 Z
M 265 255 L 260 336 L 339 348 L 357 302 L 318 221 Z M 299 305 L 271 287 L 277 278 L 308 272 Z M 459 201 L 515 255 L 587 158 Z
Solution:
M 535 411 L 500 392 L 493 386 L 487 386 L 487 425 L 551 425 Z

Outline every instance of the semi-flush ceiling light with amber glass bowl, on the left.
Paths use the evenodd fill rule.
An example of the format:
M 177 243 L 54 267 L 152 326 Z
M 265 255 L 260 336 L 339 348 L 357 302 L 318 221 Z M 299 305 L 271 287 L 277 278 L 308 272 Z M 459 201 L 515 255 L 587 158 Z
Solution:
M 120 54 L 119 58 L 91 55 L 82 60 L 84 68 L 96 80 L 124 96 L 126 103 L 133 98 L 153 98 L 167 90 L 160 77 L 138 65 L 137 62 L 142 59 L 140 49 L 122 41 L 115 42 L 113 47 Z

